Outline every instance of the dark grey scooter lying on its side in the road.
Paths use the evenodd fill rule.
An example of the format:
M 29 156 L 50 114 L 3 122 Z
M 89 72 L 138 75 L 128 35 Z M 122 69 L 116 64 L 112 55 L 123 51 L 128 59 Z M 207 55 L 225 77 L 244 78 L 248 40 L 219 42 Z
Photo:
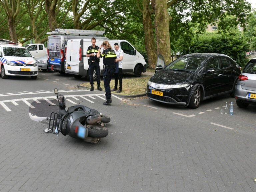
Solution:
M 104 123 L 110 122 L 110 117 L 84 105 L 75 105 L 66 111 L 66 98 L 59 95 L 56 88 L 54 93 L 57 95 L 56 99 L 36 100 L 29 107 L 32 120 L 48 125 L 45 132 L 56 135 L 61 132 L 91 143 L 97 143 L 108 135 Z

